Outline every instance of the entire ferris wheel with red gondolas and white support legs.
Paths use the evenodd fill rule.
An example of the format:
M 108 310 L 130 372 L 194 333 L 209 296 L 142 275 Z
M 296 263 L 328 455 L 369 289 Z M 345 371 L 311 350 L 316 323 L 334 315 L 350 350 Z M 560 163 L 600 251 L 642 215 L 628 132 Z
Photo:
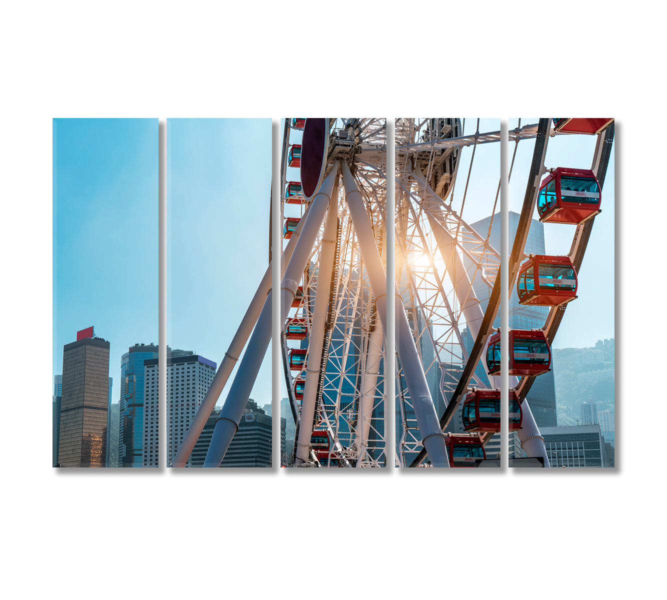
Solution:
M 550 119 L 540 119 L 536 125 L 510 131 L 515 154 L 520 141 L 536 141 L 507 262 L 490 242 L 500 173 L 495 194 L 468 199 L 471 182 L 489 177 L 475 170 L 476 152 L 500 142 L 500 131 L 480 131 L 479 120 L 466 132 L 461 119 L 396 119 L 395 213 L 388 217 L 384 119 L 285 119 L 280 285 L 271 287 L 269 267 L 173 465 L 187 461 L 245 347 L 204 466 L 220 464 L 267 349 L 271 294 L 279 289 L 285 385 L 297 428 L 295 466 L 389 466 L 392 454 L 394 464 L 403 467 L 426 461 L 434 467 L 476 466 L 485 445 L 500 431 L 500 335 L 494 319 L 518 277 L 522 302 L 551 308 L 539 335 L 510 332 L 510 431 L 519 431 L 528 456 L 541 457 L 548 466 L 526 394 L 534 377 L 548 370 L 550 344 L 573 299 L 572 293 L 557 296 L 568 292 L 565 288 L 572 281 L 576 287 L 576 269 L 599 213 L 614 135 L 613 120 L 602 119 L 602 125 L 578 121 L 597 120 L 554 119 L 552 128 Z M 598 135 L 592 169 L 552 169 L 542 183 L 548 172 L 548 139 L 564 135 L 568 123 L 584 129 L 570 134 Z M 490 215 L 488 229 L 482 232 L 466 220 L 470 206 L 480 203 Z M 571 265 L 542 257 L 545 260 L 532 265 L 532 271 L 524 269 L 523 251 L 536 205 L 544 221 L 576 224 Z M 579 208 L 573 209 L 575 205 Z M 394 247 L 387 243 L 388 218 L 396 222 Z M 388 253 L 396 257 L 395 273 L 387 273 Z M 539 265 L 544 269 L 538 274 Z M 502 289 L 503 268 L 508 269 L 509 290 Z M 543 279 L 551 279 L 550 293 L 542 290 Z M 392 283 L 396 311 L 388 315 Z M 396 327 L 392 357 L 386 356 L 384 343 L 388 318 Z M 387 381 L 396 381 L 394 390 L 384 387 L 386 370 L 392 375 Z M 450 425 L 460 405 L 467 433 L 454 435 Z M 396 447 L 388 449 L 386 417 L 393 409 Z

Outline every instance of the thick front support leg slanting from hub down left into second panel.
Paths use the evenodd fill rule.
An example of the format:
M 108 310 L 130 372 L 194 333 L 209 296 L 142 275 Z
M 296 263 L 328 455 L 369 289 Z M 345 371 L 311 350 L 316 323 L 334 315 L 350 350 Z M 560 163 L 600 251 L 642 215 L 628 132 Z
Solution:
M 292 235 L 292 237 L 296 235 L 297 242 L 280 283 L 281 323 L 287 318 L 289 307 L 294 299 L 299 281 L 301 281 L 301 277 L 303 276 L 303 269 L 315 243 L 317 231 L 319 231 L 327 206 L 329 205 L 333 182 L 336 181 L 337 177 L 338 167 L 334 166 L 322 182 L 319 191 L 313 196 L 307 217 L 301 219 L 301 221 L 305 221 L 301 232 L 299 235 L 295 233 Z M 204 460 L 204 467 L 220 466 L 229 443 L 231 443 L 231 439 L 239 428 L 243 409 L 245 409 L 255 379 L 257 378 L 257 373 L 259 373 L 259 367 L 269 346 L 269 341 L 271 341 L 272 293 L 273 289 L 269 291 L 265 299 L 261 314 L 257 319 L 257 325 L 255 325 L 255 329 L 248 342 L 247 349 L 234 377 L 234 381 L 231 384 L 225 404 L 220 411 L 220 416 L 215 421 L 215 429 L 213 429 L 211 443 Z

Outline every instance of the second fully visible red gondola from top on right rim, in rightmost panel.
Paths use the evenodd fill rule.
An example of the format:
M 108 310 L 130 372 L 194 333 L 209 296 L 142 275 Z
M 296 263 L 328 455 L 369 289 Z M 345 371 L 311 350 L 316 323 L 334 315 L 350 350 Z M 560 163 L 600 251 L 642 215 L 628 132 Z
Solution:
M 566 256 L 530 255 L 519 268 L 520 304 L 560 306 L 577 297 L 577 273 Z

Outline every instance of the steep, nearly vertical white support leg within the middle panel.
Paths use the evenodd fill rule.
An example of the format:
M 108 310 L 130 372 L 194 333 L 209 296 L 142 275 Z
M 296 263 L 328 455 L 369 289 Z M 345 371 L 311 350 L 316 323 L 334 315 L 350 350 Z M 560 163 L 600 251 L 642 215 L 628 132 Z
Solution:
M 338 169 L 336 169 L 338 171 Z M 329 292 L 331 290 L 331 273 L 333 259 L 336 257 L 336 229 L 338 225 L 338 195 L 329 199 L 322 245 L 319 253 L 319 271 L 315 285 L 315 305 L 313 319 L 308 339 L 308 355 L 305 365 L 305 388 L 301 401 L 301 418 L 299 419 L 299 437 L 297 439 L 294 464 L 300 465 L 308 460 L 310 451 L 310 437 L 313 433 L 313 419 L 315 417 L 315 403 L 317 402 L 317 386 L 322 361 L 324 344 L 324 325 L 329 309 Z M 326 365 L 325 365 L 326 368 Z

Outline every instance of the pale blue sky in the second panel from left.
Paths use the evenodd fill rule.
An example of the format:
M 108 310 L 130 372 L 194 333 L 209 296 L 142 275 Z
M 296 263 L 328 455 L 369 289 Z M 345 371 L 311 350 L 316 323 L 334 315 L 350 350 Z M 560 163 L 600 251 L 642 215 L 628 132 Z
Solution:
M 268 266 L 271 119 L 167 119 L 167 343 L 219 366 Z M 270 345 L 251 392 L 271 402 Z M 236 370 L 218 401 L 222 405 Z

